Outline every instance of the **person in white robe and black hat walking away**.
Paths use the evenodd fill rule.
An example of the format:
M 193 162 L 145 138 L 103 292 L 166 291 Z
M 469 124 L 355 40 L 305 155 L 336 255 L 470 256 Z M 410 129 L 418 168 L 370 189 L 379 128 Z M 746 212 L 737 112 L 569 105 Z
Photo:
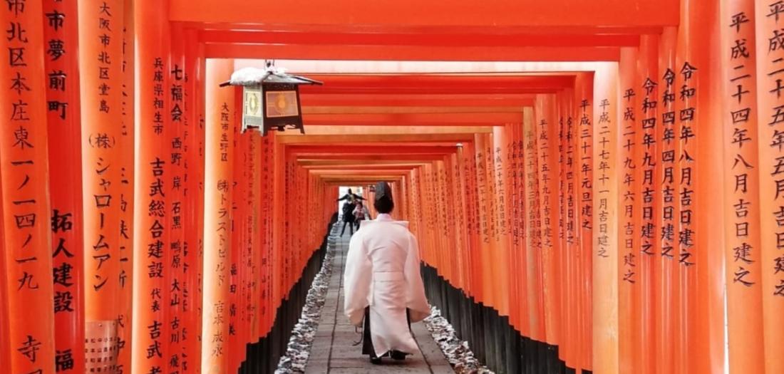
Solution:
M 349 243 L 343 287 L 343 310 L 353 325 L 363 325 L 362 354 L 378 364 L 419 350 L 410 323 L 430 315 L 419 248 L 408 222 L 390 216 L 394 208 L 388 183 L 379 182 L 373 205 L 376 220 L 365 220 Z

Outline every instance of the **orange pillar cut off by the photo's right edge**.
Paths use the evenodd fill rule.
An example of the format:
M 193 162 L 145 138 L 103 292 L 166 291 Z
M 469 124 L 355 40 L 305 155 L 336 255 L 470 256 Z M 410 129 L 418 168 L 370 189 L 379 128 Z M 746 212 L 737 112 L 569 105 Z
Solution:
M 758 41 L 757 107 L 752 110 L 757 110 L 759 118 L 760 287 L 765 372 L 770 373 L 784 371 L 784 7 L 772 0 L 754 4 L 754 14 L 746 16 L 756 22 Z

